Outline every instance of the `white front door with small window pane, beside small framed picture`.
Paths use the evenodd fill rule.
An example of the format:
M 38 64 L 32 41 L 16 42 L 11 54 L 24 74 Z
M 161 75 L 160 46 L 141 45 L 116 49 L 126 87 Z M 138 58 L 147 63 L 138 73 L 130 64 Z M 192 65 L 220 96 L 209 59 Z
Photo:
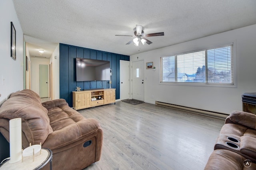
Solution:
M 144 101 L 144 61 L 132 62 L 132 98 Z

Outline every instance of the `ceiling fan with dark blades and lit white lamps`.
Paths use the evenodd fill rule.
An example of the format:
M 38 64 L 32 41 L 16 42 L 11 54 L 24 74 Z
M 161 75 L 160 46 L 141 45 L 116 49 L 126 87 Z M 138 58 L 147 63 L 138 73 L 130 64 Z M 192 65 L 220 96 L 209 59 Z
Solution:
M 143 45 L 145 43 L 152 44 L 151 41 L 149 41 L 148 39 L 146 39 L 144 37 L 153 37 L 153 36 L 161 36 L 161 35 L 164 35 L 164 32 L 144 34 L 144 31 L 142 30 L 142 25 L 136 25 L 136 31 L 134 31 L 134 35 L 116 35 L 116 36 L 135 37 L 134 39 L 132 39 L 131 41 L 126 43 L 126 45 L 134 42 L 134 45 L 140 46 L 140 43 L 142 43 Z

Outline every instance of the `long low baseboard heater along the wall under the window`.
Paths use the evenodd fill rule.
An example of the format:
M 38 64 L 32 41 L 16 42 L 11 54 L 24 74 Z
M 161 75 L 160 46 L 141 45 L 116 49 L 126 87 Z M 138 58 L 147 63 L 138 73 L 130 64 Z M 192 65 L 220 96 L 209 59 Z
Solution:
M 218 112 L 213 112 L 213 111 L 195 109 L 195 108 L 192 108 L 192 107 L 179 106 L 179 105 L 168 104 L 168 103 L 158 102 L 158 101 L 156 101 L 156 105 L 164 106 L 164 107 L 170 107 L 170 108 L 184 110 L 184 111 L 189 111 L 189 112 L 192 112 L 192 113 L 207 115 L 207 116 L 216 117 L 216 118 L 220 118 L 220 119 L 226 119 L 226 117 L 228 116 L 228 114 L 225 114 L 225 113 L 218 113 Z

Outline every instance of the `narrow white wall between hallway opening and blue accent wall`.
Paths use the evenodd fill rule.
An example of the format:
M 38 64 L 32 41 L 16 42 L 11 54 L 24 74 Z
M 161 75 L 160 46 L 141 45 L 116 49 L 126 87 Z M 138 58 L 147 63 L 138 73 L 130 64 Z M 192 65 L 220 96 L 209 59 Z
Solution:
M 52 63 L 52 99 L 54 100 L 60 98 L 60 44 L 52 53 L 50 63 Z

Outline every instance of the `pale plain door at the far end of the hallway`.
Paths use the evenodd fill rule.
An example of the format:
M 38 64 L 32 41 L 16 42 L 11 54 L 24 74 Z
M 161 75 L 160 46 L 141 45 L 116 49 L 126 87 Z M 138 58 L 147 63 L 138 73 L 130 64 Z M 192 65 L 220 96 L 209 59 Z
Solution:
M 39 64 L 39 96 L 48 98 L 48 65 Z

